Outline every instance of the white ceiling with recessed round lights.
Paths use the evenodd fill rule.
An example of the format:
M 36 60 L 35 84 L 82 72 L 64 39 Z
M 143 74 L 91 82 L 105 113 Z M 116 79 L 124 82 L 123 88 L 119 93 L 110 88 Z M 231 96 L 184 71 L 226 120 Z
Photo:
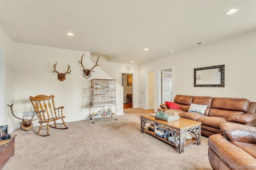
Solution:
M 225 15 L 232 8 L 238 12 Z M 1 0 L 0 10 L 1 29 L 14 42 L 119 63 L 140 64 L 256 30 L 255 0 Z

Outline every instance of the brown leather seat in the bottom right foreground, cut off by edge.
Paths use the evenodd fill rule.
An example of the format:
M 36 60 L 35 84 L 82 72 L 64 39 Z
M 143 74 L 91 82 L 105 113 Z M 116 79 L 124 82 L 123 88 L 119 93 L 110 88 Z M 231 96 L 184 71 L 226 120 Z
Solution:
M 256 127 L 220 124 L 222 134 L 208 138 L 208 159 L 214 170 L 256 169 Z

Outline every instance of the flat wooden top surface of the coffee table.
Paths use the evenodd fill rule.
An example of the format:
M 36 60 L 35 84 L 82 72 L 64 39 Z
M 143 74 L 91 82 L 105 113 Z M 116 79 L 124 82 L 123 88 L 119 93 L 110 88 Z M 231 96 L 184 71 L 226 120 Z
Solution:
M 201 122 L 192 121 L 192 120 L 184 119 L 184 118 L 180 118 L 180 120 L 178 120 L 178 121 L 167 122 L 167 121 L 164 121 L 161 119 L 156 119 L 155 117 L 152 117 L 149 114 L 140 115 L 140 117 L 151 120 L 151 121 L 156 121 L 156 122 L 158 122 L 162 125 L 165 125 L 167 127 L 176 128 L 177 130 L 184 130 L 184 129 L 202 124 Z

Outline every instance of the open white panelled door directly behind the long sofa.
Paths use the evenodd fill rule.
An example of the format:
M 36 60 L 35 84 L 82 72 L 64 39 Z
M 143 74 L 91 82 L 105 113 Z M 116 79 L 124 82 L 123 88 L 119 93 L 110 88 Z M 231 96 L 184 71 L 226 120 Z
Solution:
M 162 103 L 172 101 L 172 71 L 162 71 Z

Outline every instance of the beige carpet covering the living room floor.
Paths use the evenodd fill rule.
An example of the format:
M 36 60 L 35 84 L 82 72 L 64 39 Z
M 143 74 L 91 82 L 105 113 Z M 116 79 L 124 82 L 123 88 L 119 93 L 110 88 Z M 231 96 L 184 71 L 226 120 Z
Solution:
M 140 115 L 152 110 L 124 109 L 124 115 L 67 122 L 42 137 L 16 129 L 15 155 L 2 170 L 210 170 L 206 137 L 179 154 L 170 144 L 140 132 Z M 34 127 L 38 129 L 38 127 Z

